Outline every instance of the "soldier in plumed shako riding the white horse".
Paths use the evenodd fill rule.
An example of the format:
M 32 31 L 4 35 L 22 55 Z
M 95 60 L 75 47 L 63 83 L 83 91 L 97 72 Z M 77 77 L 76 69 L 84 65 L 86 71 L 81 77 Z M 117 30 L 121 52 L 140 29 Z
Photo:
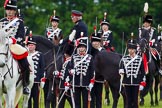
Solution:
M 16 1 L 14 0 L 6 0 L 4 3 L 4 8 L 6 10 L 6 17 L 2 18 L 0 20 L 1 28 L 6 27 L 7 24 L 13 23 L 12 26 L 9 27 L 9 29 L 15 28 L 16 30 L 11 34 L 10 38 L 14 41 L 17 41 L 17 44 L 13 44 L 10 46 L 11 53 L 13 55 L 13 58 L 18 61 L 19 67 L 21 69 L 22 77 L 23 77 L 23 93 L 29 94 L 29 75 L 30 75 L 30 68 L 29 63 L 27 60 L 28 52 L 27 49 L 25 49 L 22 46 L 24 45 L 24 24 L 23 21 L 16 16 L 16 10 L 17 5 Z

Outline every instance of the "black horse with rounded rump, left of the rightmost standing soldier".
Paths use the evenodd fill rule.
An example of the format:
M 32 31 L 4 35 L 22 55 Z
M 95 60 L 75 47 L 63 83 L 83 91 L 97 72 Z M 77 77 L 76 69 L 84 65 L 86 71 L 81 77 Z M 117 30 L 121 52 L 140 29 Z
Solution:
M 122 55 L 114 52 L 102 51 L 96 56 L 96 72 L 99 72 L 106 81 L 108 81 L 110 90 L 113 96 L 112 108 L 117 108 L 118 99 L 120 96 L 120 75 L 119 75 L 119 63 Z M 126 96 L 122 90 L 122 96 L 124 99 L 124 108 L 126 108 Z

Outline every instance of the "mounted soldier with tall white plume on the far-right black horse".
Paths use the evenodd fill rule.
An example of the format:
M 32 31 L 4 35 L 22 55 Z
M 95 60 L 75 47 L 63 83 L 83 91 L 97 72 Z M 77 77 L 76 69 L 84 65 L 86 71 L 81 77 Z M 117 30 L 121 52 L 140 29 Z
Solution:
M 158 69 L 157 71 L 161 73 L 160 55 L 159 55 L 159 52 L 155 49 L 156 44 L 154 44 L 156 41 L 158 41 L 158 36 L 157 36 L 156 28 L 152 27 L 152 23 L 153 23 L 152 16 L 149 14 L 146 14 L 143 17 L 143 26 L 139 28 L 139 40 L 141 38 L 144 38 L 147 40 L 147 42 L 149 43 L 149 46 L 151 47 L 151 52 L 153 52 L 152 53 L 153 59 L 156 61 L 156 66 Z M 149 54 L 146 54 L 146 56 L 147 56 L 147 59 L 149 59 Z

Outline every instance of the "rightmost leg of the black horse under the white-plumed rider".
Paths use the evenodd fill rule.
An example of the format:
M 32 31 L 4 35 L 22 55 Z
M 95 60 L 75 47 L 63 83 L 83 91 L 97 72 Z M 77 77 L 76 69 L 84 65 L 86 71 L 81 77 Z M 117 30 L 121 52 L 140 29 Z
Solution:
M 159 104 L 159 102 L 158 102 L 158 85 L 159 85 L 159 82 L 160 82 L 159 75 L 156 75 L 155 76 L 155 88 L 154 88 L 154 91 L 155 91 L 155 105 Z

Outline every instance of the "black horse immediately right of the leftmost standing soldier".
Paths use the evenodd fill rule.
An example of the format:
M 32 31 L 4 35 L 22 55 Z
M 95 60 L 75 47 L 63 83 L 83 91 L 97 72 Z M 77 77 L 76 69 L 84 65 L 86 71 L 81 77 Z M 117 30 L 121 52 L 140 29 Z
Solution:
M 63 48 L 55 46 L 51 41 L 43 36 L 33 36 L 37 42 L 36 50 L 43 53 L 45 58 L 45 77 L 47 78 L 44 86 L 45 108 L 55 108 L 59 95 L 59 79 L 55 78 L 53 72 L 61 70 L 63 64 Z

